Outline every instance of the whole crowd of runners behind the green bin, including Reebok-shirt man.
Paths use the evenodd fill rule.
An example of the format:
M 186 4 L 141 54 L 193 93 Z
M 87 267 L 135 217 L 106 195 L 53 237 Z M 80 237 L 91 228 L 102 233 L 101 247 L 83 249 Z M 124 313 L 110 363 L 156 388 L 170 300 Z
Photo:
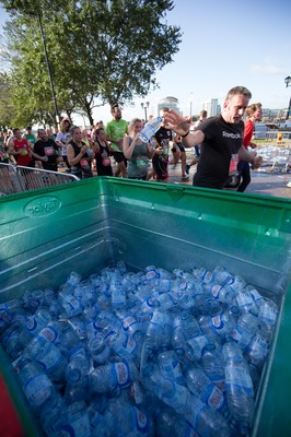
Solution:
M 97 175 L 168 182 L 168 165 L 176 166 L 181 160 L 182 180 L 187 180 L 191 166 L 197 165 L 194 186 L 223 189 L 232 174 L 238 173 L 237 191 L 244 191 L 251 182 L 249 166 L 261 164 L 261 158 L 247 150 L 255 147 L 254 126 L 261 117 L 260 104 L 248 106 L 251 97 L 247 88 L 236 86 L 229 91 L 219 116 L 207 118 L 203 110 L 195 125 L 190 117 L 164 107 L 160 111 L 163 121 L 148 142 L 139 137 L 144 120 L 135 118 L 128 125 L 118 105 L 112 107 L 109 122 L 100 121 L 91 130 L 73 126 L 66 117 L 55 132 L 40 128 L 35 135 L 31 126 L 25 132 L 19 128 L 1 131 L 0 162 L 26 170 L 35 166 L 63 170 L 79 178 Z M 187 147 L 196 153 L 189 163 Z

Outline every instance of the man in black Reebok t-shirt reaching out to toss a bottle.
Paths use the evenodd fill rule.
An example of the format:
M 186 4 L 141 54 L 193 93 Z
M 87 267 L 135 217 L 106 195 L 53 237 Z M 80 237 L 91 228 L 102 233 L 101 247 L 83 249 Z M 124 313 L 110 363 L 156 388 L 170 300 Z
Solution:
M 208 118 L 194 132 L 189 132 L 187 118 L 174 110 L 165 114 L 165 126 L 182 137 L 185 147 L 201 144 L 194 186 L 223 189 L 230 176 L 236 172 L 238 156 L 255 168 L 260 166 L 261 157 L 248 153 L 243 146 L 242 117 L 251 97 L 251 92 L 244 86 L 233 87 L 226 95 L 221 115 Z

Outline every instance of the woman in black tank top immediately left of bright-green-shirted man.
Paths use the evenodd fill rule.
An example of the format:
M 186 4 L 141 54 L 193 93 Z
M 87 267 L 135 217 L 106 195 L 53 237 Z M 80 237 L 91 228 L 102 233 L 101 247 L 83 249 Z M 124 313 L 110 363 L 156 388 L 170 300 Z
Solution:
M 113 176 L 110 149 L 104 128 L 97 128 L 92 137 L 95 149 L 96 172 L 98 176 Z

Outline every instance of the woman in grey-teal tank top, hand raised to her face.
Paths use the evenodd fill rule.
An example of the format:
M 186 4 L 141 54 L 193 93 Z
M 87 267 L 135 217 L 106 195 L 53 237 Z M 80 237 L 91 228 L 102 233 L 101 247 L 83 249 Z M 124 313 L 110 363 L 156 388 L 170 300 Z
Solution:
M 148 178 L 149 160 L 153 156 L 150 142 L 143 142 L 139 138 L 142 129 L 142 121 L 133 118 L 129 126 L 129 137 L 124 139 L 124 155 L 128 160 L 127 175 L 130 179 Z

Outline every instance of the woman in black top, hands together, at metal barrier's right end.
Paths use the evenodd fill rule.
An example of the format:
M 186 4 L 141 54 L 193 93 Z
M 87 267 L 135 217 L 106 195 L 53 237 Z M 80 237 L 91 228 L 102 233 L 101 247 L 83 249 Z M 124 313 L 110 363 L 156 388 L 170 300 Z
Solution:
M 81 178 L 93 177 L 91 162 L 93 160 L 92 150 L 82 141 L 82 131 L 77 126 L 70 129 L 71 140 L 68 143 L 68 162 L 71 173 Z M 94 149 L 93 149 L 94 150 Z

